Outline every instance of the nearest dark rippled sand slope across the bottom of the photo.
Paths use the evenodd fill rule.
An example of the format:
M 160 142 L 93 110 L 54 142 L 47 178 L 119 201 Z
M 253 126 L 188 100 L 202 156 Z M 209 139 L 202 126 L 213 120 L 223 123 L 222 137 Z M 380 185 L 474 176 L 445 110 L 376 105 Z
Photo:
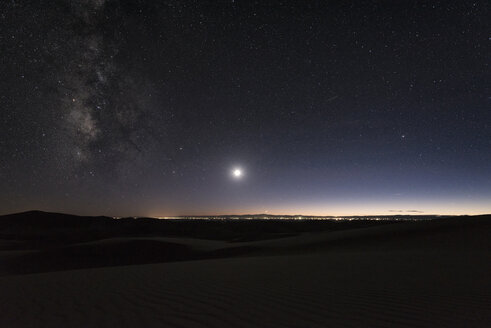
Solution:
M 53 327 L 485 327 L 488 254 L 345 252 L 0 278 L 0 323 Z M 481 262 L 484 263 L 484 262 Z M 8 297 L 7 297 L 8 295 Z

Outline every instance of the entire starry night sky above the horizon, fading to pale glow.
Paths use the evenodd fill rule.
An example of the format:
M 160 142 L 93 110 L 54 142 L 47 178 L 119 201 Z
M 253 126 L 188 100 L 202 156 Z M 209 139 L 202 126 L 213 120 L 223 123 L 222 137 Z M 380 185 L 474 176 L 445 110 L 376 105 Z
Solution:
M 0 214 L 491 212 L 490 9 L 1 1 Z

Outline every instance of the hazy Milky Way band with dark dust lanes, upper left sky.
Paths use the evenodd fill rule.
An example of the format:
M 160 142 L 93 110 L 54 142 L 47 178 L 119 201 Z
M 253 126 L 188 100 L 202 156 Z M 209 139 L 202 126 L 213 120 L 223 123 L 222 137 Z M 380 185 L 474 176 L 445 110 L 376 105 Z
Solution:
M 131 77 L 114 61 L 118 40 L 101 28 L 104 2 L 72 3 L 70 14 L 69 56 L 59 81 L 65 154 L 81 163 L 116 154 L 134 157 L 132 153 L 141 151 L 137 125 L 143 109 L 132 99 Z M 112 154 L 101 154 L 102 149 Z

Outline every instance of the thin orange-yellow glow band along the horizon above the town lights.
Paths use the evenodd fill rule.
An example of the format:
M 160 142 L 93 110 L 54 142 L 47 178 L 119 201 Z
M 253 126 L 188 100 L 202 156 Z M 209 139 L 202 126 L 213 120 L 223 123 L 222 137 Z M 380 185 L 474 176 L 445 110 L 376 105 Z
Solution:
M 19 208 L 15 212 L 41 210 L 46 212 L 67 213 L 76 215 L 110 217 L 177 217 L 177 216 L 234 216 L 234 215 L 276 215 L 276 216 L 424 216 L 424 215 L 485 215 L 491 214 L 491 204 L 485 199 L 439 200 L 439 201 L 353 201 L 353 202 L 288 202 L 286 204 L 204 204 L 191 210 L 188 204 L 172 206 L 173 204 L 147 204 L 140 209 L 127 211 L 124 208 L 106 208 L 102 211 L 77 211 L 70 207 L 33 206 Z M 215 206 L 213 206 L 215 205 Z M 268 206 L 270 205 L 270 206 Z M 213 208 L 213 207 L 214 208 Z M 10 212 L 14 213 L 14 211 Z M 10 214 L 2 213 L 2 214 Z

